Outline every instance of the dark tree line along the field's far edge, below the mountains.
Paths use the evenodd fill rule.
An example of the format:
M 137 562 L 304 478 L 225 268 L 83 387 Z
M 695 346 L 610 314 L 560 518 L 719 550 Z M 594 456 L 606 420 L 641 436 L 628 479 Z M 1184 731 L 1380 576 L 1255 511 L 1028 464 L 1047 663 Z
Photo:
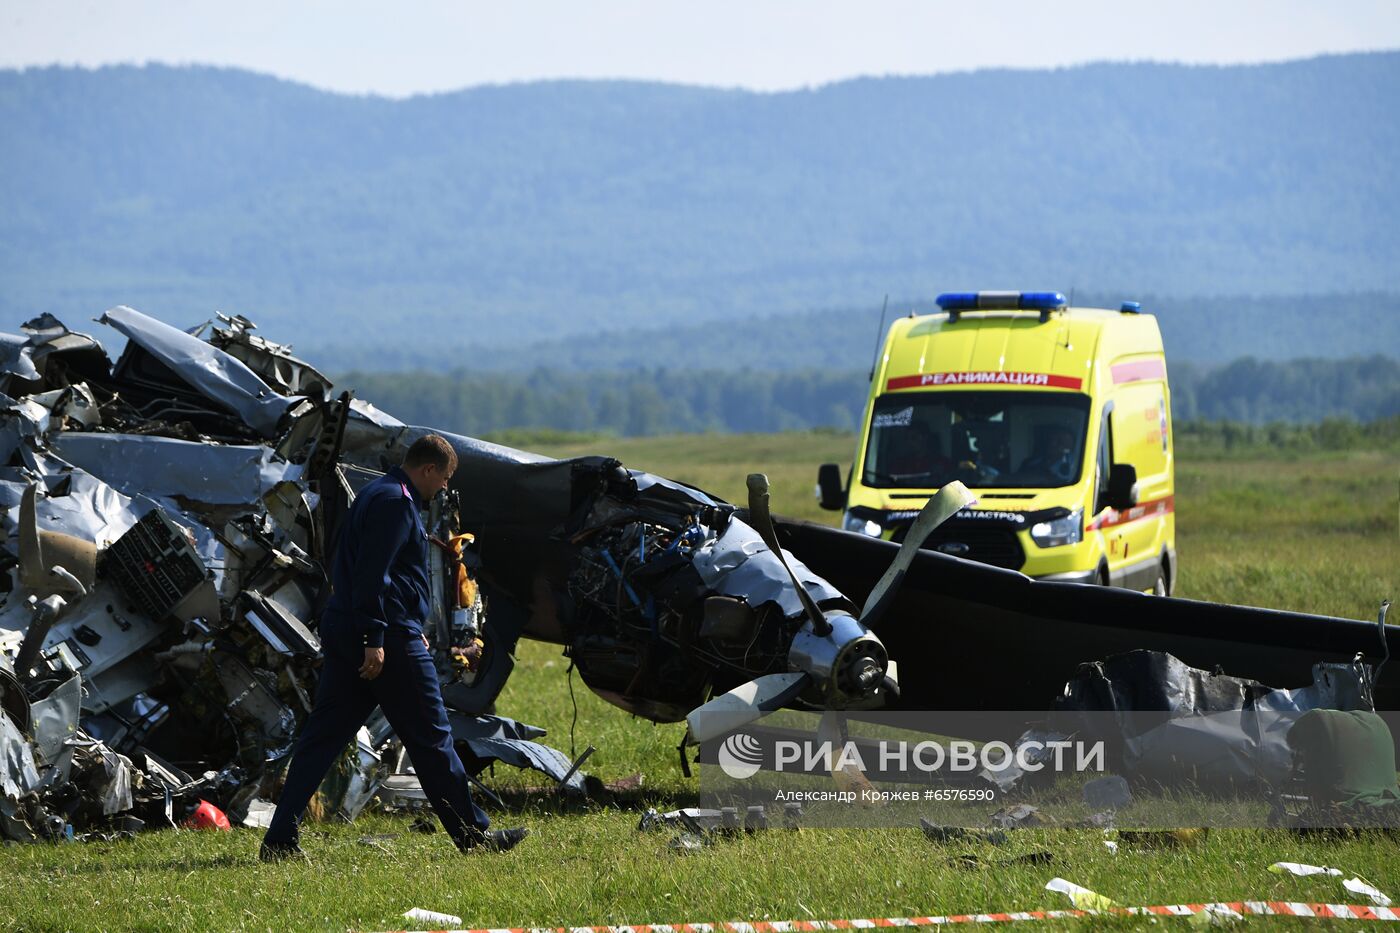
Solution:
M 717 431 L 854 430 L 869 388 L 860 370 L 349 373 L 356 395 L 413 424 L 480 436 L 552 429 L 627 437 Z M 1261 426 L 1400 415 L 1400 366 L 1386 356 L 1170 370 L 1176 422 Z

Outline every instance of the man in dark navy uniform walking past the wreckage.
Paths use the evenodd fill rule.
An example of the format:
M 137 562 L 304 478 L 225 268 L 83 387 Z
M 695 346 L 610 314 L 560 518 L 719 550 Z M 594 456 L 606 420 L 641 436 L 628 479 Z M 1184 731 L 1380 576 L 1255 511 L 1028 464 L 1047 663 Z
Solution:
M 321 618 L 325 663 L 316 706 L 307 719 L 262 859 L 302 856 L 297 824 L 330 765 L 374 712 L 384 709 L 413 761 L 442 828 L 462 850 L 504 852 L 528 829 L 487 829 L 472 801 L 437 670 L 423 637 L 428 615 L 428 539 L 419 510 L 447 489 L 456 451 L 442 437 L 420 437 L 403 466 L 365 486 L 346 514 Z

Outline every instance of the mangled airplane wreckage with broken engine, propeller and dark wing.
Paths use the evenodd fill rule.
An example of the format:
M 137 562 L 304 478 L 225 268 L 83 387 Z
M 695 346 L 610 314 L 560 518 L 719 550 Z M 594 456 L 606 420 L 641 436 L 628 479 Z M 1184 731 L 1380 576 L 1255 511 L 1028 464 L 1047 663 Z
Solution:
M 49 315 L 0 335 L 0 835 L 171 825 L 202 799 L 256 824 L 314 695 L 340 518 L 430 429 L 336 394 L 244 318 L 192 333 L 125 307 L 99 321 L 126 339 L 115 364 Z M 1128 649 L 1288 686 L 1378 647 L 1373 623 L 920 551 L 969 504 L 956 485 L 896 548 L 774 523 L 757 475 L 736 509 L 616 459 L 440 433 L 459 468 L 426 523 L 424 628 L 477 773 L 500 759 L 584 787 L 539 730 L 491 714 L 521 637 L 564 646 L 624 710 L 689 720 L 687 741 L 781 706 L 1043 709 L 1081 661 Z M 1387 674 L 1376 705 L 1396 707 Z M 412 803 L 402 758 L 372 719 L 328 808 Z

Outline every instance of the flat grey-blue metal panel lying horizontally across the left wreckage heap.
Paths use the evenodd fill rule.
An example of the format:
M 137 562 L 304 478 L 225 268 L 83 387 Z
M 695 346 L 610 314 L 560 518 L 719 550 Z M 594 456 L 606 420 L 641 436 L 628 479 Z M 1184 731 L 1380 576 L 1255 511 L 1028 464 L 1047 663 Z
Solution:
M 193 509 L 249 506 L 301 475 L 301 466 L 260 444 L 77 431 L 62 431 L 49 443 L 57 457 L 129 496 L 185 500 Z

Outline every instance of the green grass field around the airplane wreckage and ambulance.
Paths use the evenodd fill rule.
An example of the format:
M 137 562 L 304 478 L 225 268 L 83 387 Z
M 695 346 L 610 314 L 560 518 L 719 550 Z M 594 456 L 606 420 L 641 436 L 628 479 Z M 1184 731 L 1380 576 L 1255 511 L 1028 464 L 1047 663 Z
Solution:
M 832 520 L 812 499 L 816 464 L 846 461 L 843 434 L 671 437 L 535 444 L 554 455 L 608 452 L 742 500 L 762 469 L 783 514 Z M 1350 451 L 1310 459 L 1191 458 L 1177 474 L 1180 595 L 1373 618 L 1400 591 L 1400 466 L 1393 452 Z M 498 707 L 545 726 L 570 748 L 574 706 L 567 660 L 525 643 Z M 407 832 L 407 820 L 367 815 L 308 827 L 309 864 L 265 866 L 259 834 L 168 831 L 118 843 L 10 846 L 0 850 L 0 929 L 402 929 L 412 906 L 456 913 L 469 926 L 641 925 L 746 919 L 916 916 L 1064 908 L 1043 890 L 1061 876 L 1120 904 L 1291 899 L 1354 902 L 1336 878 L 1280 878 L 1277 860 L 1337 866 L 1400 895 L 1394 842 L 1305 841 L 1284 832 L 1221 831 L 1198 849 L 1110 855 L 1091 831 L 1025 831 L 1004 848 L 932 845 L 911 829 L 773 829 L 696 853 L 668 832 L 637 832 L 647 806 L 686 806 L 679 726 L 631 719 L 574 679 L 573 744 L 598 747 L 588 770 L 603 780 L 634 772 L 644 790 L 626 806 L 571 810 L 525 792 L 535 775 L 497 769 L 489 780 L 525 801 L 535 835 L 504 856 L 459 856 L 442 834 Z M 391 835 L 364 841 L 371 835 Z M 1050 864 L 963 870 L 1036 850 Z M 1109 920 L 1099 920 L 1109 923 Z M 1128 920 L 1114 920 L 1128 923 Z

